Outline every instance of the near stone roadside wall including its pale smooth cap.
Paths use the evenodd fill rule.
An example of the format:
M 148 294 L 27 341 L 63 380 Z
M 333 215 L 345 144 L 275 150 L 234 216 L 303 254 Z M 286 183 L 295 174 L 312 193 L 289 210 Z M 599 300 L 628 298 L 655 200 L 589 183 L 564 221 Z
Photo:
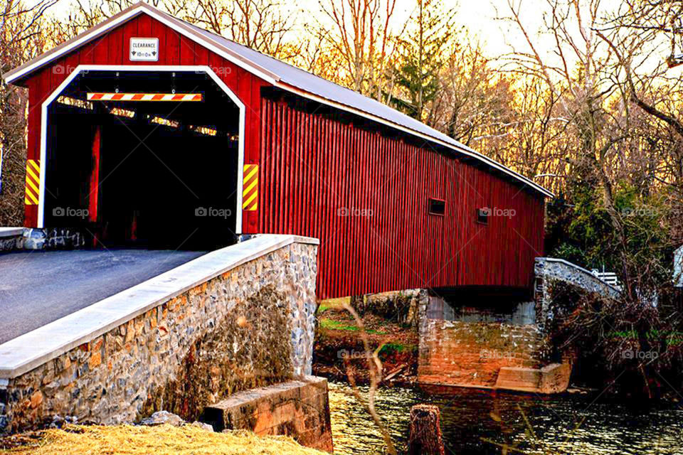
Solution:
M 317 245 L 258 236 L 0 345 L 0 431 L 55 415 L 116 424 L 167 410 L 198 419 L 235 392 L 305 378 Z M 327 383 L 316 383 L 324 403 L 305 430 L 320 439 L 329 410 Z

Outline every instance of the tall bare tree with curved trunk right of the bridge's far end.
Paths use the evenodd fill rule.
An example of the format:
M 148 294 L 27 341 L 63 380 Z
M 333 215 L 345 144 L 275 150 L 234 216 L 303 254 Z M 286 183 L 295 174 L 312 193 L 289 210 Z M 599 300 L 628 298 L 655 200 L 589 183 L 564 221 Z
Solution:
M 573 146 L 564 150 L 571 172 L 600 188 L 602 205 L 621 245 L 621 273 L 627 294 L 637 299 L 630 279 L 636 268 L 628 263 L 625 223 L 614 196 L 615 166 L 625 164 L 620 160 L 625 149 L 620 146 L 632 138 L 630 112 L 620 109 L 624 106 L 619 105 L 620 87 L 614 82 L 614 74 L 605 71 L 606 46 L 597 31 L 600 0 L 546 0 L 546 4 L 544 32 L 554 43 L 552 51 L 556 58 L 549 61 L 541 55 L 521 16 L 521 1 L 508 0 L 509 20 L 527 44 L 526 50 L 515 50 L 510 55 L 511 62 L 517 71 L 543 80 L 557 100 L 554 117 L 568 119 L 565 137 L 573 141 Z

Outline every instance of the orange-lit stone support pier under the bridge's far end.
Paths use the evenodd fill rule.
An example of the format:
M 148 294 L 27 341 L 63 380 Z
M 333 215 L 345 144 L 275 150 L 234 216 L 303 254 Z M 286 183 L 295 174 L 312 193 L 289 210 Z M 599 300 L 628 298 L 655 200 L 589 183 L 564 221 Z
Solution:
M 418 382 L 496 388 L 504 368 L 541 368 L 548 353 L 533 301 L 430 295 L 420 309 Z

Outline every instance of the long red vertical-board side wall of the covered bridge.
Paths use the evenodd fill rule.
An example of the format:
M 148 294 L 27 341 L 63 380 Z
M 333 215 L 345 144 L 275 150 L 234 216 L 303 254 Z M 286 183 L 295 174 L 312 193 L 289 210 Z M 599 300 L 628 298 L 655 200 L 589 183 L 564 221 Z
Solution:
M 541 196 L 339 112 L 268 97 L 261 109 L 259 231 L 321 240 L 322 298 L 531 284 L 543 247 Z M 446 201 L 444 216 L 428 214 L 428 198 Z M 515 215 L 481 225 L 482 207 Z

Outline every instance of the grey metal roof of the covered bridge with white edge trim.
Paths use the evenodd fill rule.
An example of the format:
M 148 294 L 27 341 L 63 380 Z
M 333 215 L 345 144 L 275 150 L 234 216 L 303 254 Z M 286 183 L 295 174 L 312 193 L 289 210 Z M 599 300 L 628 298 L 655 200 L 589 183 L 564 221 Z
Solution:
M 70 41 L 67 41 L 58 47 L 54 48 L 43 55 L 34 58 L 33 60 L 21 65 L 9 73 L 4 75 L 6 82 L 13 82 L 19 80 L 26 75 L 33 73 L 33 71 L 46 65 L 51 60 L 58 58 L 60 55 L 70 52 L 74 48 L 78 48 L 80 45 L 88 43 L 97 36 L 106 33 L 111 28 L 119 26 L 121 23 L 128 21 L 129 19 L 138 16 L 139 14 L 149 14 L 150 16 L 157 18 L 158 20 L 166 23 L 166 25 L 174 28 L 179 33 L 188 36 L 189 38 L 197 41 L 201 45 L 204 45 L 211 50 L 216 51 L 219 55 L 227 58 L 233 63 L 239 65 L 240 67 L 248 70 L 264 80 L 272 83 L 273 85 L 280 87 L 284 90 L 295 92 L 297 95 L 307 97 L 318 102 L 322 102 L 327 105 L 332 105 L 339 109 L 344 109 L 346 111 L 352 112 L 354 114 L 359 114 L 363 117 L 376 120 L 378 122 L 388 124 L 391 127 L 396 127 L 405 132 L 411 133 L 415 136 L 422 137 L 425 140 L 433 141 L 437 144 L 447 146 L 450 149 L 454 149 L 460 154 L 465 154 L 471 156 L 477 161 L 481 161 L 488 166 L 495 168 L 502 173 L 505 173 L 514 180 L 519 181 L 524 186 L 529 186 L 536 191 L 539 191 L 544 196 L 552 197 L 553 194 L 543 188 L 537 183 L 529 180 L 522 176 L 521 174 L 512 171 L 512 169 L 499 164 L 497 161 L 490 159 L 488 156 L 482 155 L 479 152 L 471 149 L 465 144 L 461 144 L 448 137 L 447 135 L 438 132 L 436 129 L 428 127 L 422 122 L 408 117 L 408 115 L 398 112 L 396 109 L 388 107 L 376 100 L 369 97 L 361 95 L 359 92 L 354 92 L 354 90 L 349 90 L 346 87 L 337 85 L 334 82 L 323 79 L 312 73 L 296 68 L 293 65 L 272 58 L 269 55 L 248 48 L 245 45 L 235 43 L 234 41 L 228 40 L 223 36 L 217 35 L 216 33 L 211 33 L 192 25 L 186 21 L 182 21 L 179 18 L 166 14 L 159 9 L 149 6 L 145 3 L 138 3 L 130 6 L 119 14 L 112 16 L 100 23 L 94 28 L 81 33 Z

